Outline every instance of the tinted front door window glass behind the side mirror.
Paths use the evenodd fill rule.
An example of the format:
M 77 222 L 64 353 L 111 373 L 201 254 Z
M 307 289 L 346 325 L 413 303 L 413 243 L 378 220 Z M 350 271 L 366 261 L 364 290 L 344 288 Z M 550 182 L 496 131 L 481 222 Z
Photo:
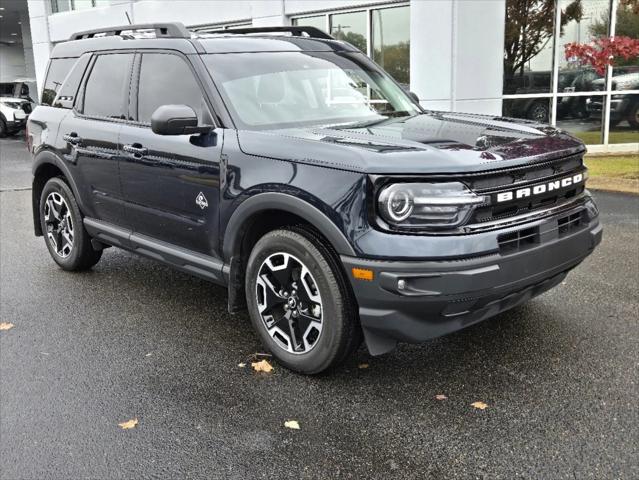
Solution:
M 162 105 L 188 105 L 202 122 L 204 98 L 193 72 L 177 55 L 145 53 L 140 66 L 138 121 L 151 123 L 151 115 Z

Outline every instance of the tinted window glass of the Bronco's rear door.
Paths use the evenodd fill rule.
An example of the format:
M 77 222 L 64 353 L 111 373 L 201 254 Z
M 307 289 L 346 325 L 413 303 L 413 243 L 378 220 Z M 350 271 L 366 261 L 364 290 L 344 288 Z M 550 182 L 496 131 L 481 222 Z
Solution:
M 84 90 L 85 115 L 126 118 L 132 53 L 99 55 Z

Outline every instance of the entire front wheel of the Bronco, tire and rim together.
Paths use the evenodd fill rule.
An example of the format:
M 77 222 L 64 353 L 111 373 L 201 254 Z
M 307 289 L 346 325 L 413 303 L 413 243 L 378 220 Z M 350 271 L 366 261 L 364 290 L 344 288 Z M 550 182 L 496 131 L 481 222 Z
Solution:
M 251 251 L 245 281 L 251 322 L 264 347 L 290 370 L 315 374 L 335 367 L 362 341 L 337 262 L 304 227 L 269 232 Z

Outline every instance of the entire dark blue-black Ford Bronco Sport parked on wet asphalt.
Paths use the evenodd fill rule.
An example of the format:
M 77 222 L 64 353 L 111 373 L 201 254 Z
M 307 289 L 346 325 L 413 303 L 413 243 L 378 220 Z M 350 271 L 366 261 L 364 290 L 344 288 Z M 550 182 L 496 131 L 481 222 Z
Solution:
M 601 239 L 579 140 L 425 111 L 314 28 L 78 33 L 45 89 L 28 147 L 55 262 L 115 246 L 226 285 L 298 372 L 492 317 Z

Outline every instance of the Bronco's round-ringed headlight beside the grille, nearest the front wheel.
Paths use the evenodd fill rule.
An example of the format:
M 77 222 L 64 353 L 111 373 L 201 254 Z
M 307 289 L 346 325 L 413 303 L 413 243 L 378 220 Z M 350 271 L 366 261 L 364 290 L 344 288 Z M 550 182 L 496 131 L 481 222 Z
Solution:
M 394 183 L 380 191 L 377 206 L 391 226 L 444 229 L 461 225 L 474 206 L 486 201 L 458 182 Z

